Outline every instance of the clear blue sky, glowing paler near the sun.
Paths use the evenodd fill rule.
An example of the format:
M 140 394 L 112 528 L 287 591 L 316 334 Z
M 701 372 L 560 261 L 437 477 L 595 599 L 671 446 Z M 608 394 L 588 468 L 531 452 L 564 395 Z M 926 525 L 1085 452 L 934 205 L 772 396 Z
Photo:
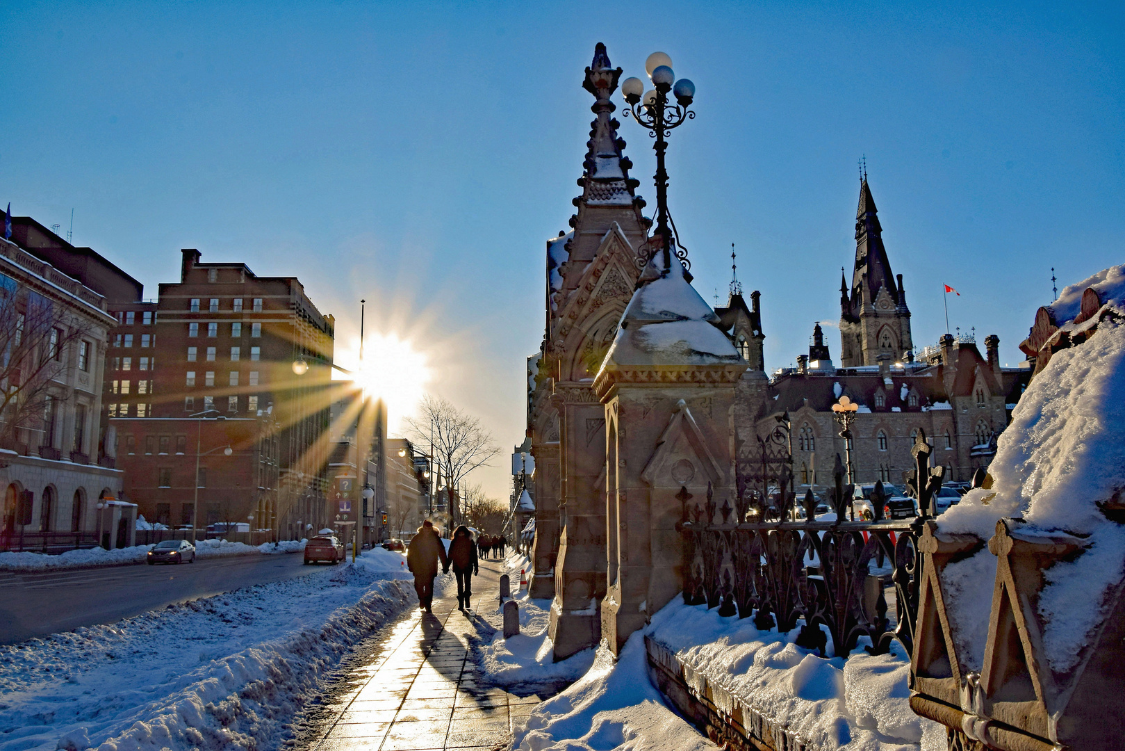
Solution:
M 698 118 L 670 205 L 708 301 L 730 243 L 767 368 L 839 316 L 866 154 L 915 342 L 997 333 L 1016 364 L 1051 267 L 1125 261 L 1120 3 L 21 3 L 0 6 L 0 203 L 144 281 L 179 249 L 296 275 L 353 349 L 410 338 L 430 388 L 523 431 L 543 241 L 577 195 L 596 42 L 667 52 Z M 652 205 L 652 153 L 626 153 Z M 832 352 L 838 334 L 829 329 Z M 506 493 L 506 461 L 480 480 Z

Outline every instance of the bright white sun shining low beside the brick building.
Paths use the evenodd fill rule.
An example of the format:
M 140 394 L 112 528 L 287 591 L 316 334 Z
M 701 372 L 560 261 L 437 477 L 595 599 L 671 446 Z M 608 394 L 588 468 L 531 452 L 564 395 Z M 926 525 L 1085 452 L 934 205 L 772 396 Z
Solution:
M 357 342 L 354 361 L 358 367 L 351 377 L 366 395 L 386 403 L 387 431 L 397 433 L 403 419 L 414 413 L 425 393 L 431 378 L 429 358 L 411 341 L 394 333 L 366 336 L 361 364 L 358 350 Z

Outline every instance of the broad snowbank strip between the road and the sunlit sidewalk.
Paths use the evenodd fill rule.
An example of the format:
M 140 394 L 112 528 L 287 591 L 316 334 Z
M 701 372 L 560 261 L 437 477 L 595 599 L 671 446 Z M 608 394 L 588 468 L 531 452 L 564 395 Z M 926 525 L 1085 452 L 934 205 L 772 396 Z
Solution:
M 276 749 L 340 658 L 415 600 L 377 548 L 282 582 L 0 646 L 0 751 Z

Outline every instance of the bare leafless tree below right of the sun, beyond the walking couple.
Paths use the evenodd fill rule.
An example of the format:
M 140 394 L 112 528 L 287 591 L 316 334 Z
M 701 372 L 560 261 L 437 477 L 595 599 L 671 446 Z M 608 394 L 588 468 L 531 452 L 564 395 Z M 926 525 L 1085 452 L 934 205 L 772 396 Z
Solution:
M 480 420 L 461 412 L 450 402 L 426 394 L 422 400 L 421 415 L 408 418 L 407 432 L 422 446 L 433 447 L 433 458 L 440 476 L 458 498 L 461 484 L 470 472 L 488 464 L 500 453 L 492 433 L 480 427 Z M 452 522 L 460 524 L 461 515 L 451 508 Z

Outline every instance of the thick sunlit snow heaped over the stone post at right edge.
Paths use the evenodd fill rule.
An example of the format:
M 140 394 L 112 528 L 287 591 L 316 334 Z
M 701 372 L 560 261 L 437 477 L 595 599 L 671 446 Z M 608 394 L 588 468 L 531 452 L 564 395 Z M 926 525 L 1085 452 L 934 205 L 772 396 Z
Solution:
M 1105 276 L 1113 294 L 1125 287 L 1123 267 L 1096 276 Z M 1060 301 L 1080 296 L 1073 289 L 1087 286 L 1090 279 L 1066 287 Z M 1052 356 L 1012 411 L 989 474 L 991 490 L 970 491 L 942 516 L 939 528 L 988 539 L 999 519 L 1023 517 L 1032 525 L 1027 534 L 1053 530 L 1084 538 L 1084 553 L 1046 572 L 1040 601 L 1047 660 L 1056 671 L 1068 670 L 1104 618 L 1099 606 L 1108 588 L 1123 576 L 1125 530 L 1097 504 L 1125 488 L 1125 327 L 1102 321 L 1089 340 Z M 955 594 L 948 610 L 962 610 L 970 626 L 955 638 L 966 658 L 979 661 L 983 632 L 972 624 L 984 613 L 975 602 L 984 587 L 970 580 L 987 578 L 991 590 L 996 558 L 988 551 L 975 557 L 950 566 L 945 579 Z

